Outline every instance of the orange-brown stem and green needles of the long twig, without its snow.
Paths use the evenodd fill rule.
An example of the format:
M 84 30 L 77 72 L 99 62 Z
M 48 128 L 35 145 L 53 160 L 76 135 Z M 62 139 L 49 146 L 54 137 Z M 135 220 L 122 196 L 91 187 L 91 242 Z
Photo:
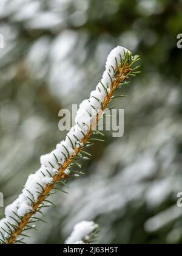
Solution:
M 41 183 L 36 182 L 38 186 L 38 190 L 36 191 L 36 193 L 38 194 L 38 198 L 36 201 L 34 201 L 34 194 L 32 194 L 31 191 L 26 191 L 26 193 L 28 194 L 26 198 L 29 201 L 29 205 L 31 209 L 29 210 L 28 213 L 25 213 L 23 216 L 19 216 L 15 211 L 12 211 L 12 215 L 10 215 L 9 218 L 12 218 L 12 219 L 14 218 L 15 223 L 13 222 L 13 224 L 9 224 L 6 219 L 4 219 L 4 222 L 2 223 L 2 225 L 0 222 L 0 238 L 1 238 L 0 243 L 5 243 L 5 244 L 24 243 L 22 238 L 18 239 L 18 236 L 19 235 L 26 236 L 23 233 L 25 230 L 29 230 L 31 228 L 35 229 L 35 226 L 31 226 L 30 224 L 36 223 L 38 221 L 43 221 L 41 218 L 35 217 L 35 214 L 41 213 L 41 208 L 49 207 L 51 205 L 50 204 L 51 202 L 47 201 L 47 198 L 50 196 L 50 194 L 52 194 L 52 190 L 57 188 L 57 184 L 60 181 L 62 182 L 62 185 L 67 186 L 66 180 L 69 177 L 72 177 L 70 173 L 74 172 L 70 169 L 72 168 L 72 166 L 77 165 L 79 168 L 81 168 L 81 165 L 78 162 L 76 162 L 76 158 L 77 157 L 83 158 L 83 155 L 84 157 L 86 157 L 86 155 L 87 157 L 88 156 L 90 157 L 90 154 L 88 154 L 85 151 L 88 146 L 92 145 L 90 141 L 93 141 L 93 140 L 103 141 L 98 138 L 90 138 L 92 133 L 93 132 L 95 133 L 95 131 L 93 131 L 93 128 L 97 126 L 99 119 L 103 115 L 104 110 L 106 110 L 107 108 L 107 105 L 113 99 L 115 99 L 115 96 L 113 96 L 115 90 L 120 88 L 122 85 L 126 85 L 127 84 L 126 80 L 129 79 L 130 76 L 133 76 L 136 74 L 135 69 L 138 67 L 132 68 L 132 65 L 139 60 L 139 57 L 138 55 L 132 57 L 131 52 L 127 51 L 127 52 L 124 52 L 123 56 L 120 54 L 120 60 L 118 60 L 115 57 L 114 59 L 116 59 L 115 66 L 112 65 L 112 68 L 109 69 L 109 73 L 107 70 L 107 73 L 108 73 L 107 76 L 109 76 L 109 80 L 110 80 L 110 88 L 108 87 L 108 85 L 106 86 L 104 84 L 103 82 L 104 79 L 101 80 L 101 82 L 99 83 L 100 87 L 99 86 L 97 87 L 98 91 L 101 92 L 103 90 L 102 89 L 103 87 L 105 92 L 105 97 L 103 101 L 101 101 L 101 99 L 98 99 L 95 96 L 93 96 L 93 98 L 95 98 L 95 101 L 97 101 L 99 104 L 99 109 L 96 110 L 97 111 L 96 115 L 93 117 L 92 117 L 92 114 L 89 112 L 89 116 L 91 115 L 90 119 L 92 119 L 90 126 L 84 123 L 84 121 L 82 122 L 85 127 L 87 126 L 86 132 L 83 132 L 83 130 L 81 130 L 81 133 L 83 133 L 83 138 L 79 140 L 76 137 L 75 139 L 78 141 L 78 144 L 75 145 L 74 141 L 72 141 L 72 138 L 67 136 L 67 139 L 70 141 L 70 144 L 72 146 L 72 151 L 70 151 L 70 149 L 68 149 L 66 146 L 62 145 L 65 149 L 63 150 L 64 152 L 62 151 L 62 155 L 64 155 L 64 161 L 62 162 L 54 154 L 56 159 L 56 164 L 59 166 L 59 168 L 55 170 L 55 166 L 53 165 L 53 163 L 49 162 L 50 168 L 52 168 L 52 170 L 55 170 L 55 174 L 50 173 L 48 169 L 46 169 L 46 172 L 47 172 L 46 174 L 44 172 L 42 173 L 42 177 L 44 178 L 47 178 L 47 175 L 49 176 L 49 182 L 47 182 L 47 185 L 45 187 L 43 187 Z M 91 107 L 93 108 L 92 105 Z M 81 126 L 79 124 L 79 121 L 77 122 L 77 124 Z M 75 137 L 75 135 L 73 136 Z M 79 172 L 79 174 L 81 174 L 81 172 Z M 74 176 L 77 177 L 79 174 L 76 173 L 74 174 Z M 67 193 L 64 190 L 61 190 L 61 191 L 64 193 Z M 49 205 L 47 205 L 47 203 L 49 203 Z

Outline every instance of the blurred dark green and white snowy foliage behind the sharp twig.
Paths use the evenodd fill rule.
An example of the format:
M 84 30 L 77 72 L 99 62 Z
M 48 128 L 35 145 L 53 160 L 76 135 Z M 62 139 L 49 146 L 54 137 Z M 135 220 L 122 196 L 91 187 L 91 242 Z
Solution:
M 124 137 L 96 143 L 87 175 L 56 194 L 27 243 L 64 243 L 94 220 L 98 243 L 182 243 L 182 1 L 1 0 L 0 191 L 21 192 L 39 157 L 55 148 L 61 108 L 88 98 L 118 44 L 141 55 L 141 74 L 123 89 Z M 4 208 L 0 208 L 0 217 Z

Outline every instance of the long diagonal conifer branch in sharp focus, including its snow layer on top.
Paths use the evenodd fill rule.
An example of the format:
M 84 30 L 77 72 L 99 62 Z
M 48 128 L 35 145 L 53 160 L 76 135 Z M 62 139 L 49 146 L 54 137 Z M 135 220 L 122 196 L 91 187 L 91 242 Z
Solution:
M 115 90 L 127 85 L 126 79 L 130 76 L 135 76 L 138 67 L 132 66 L 139 59 L 138 55 L 132 56 L 130 51 L 121 46 L 109 54 L 103 78 L 90 98 L 81 103 L 75 119 L 76 125 L 67 134 L 66 140 L 61 141 L 50 154 L 41 157 L 41 168 L 29 176 L 22 194 L 5 209 L 5 218 L 0 221 L 0 243 L 24 243 L 22 236 L 27 237 L 24 232 L 36 229 L 36 222 L 43 221 L 35 217 L 36 213 L 52 205 L 47 200 L 52 191 L 67 193 L 58 188 L 58 183 L 67 187 L 66 180 L 72 177 L 72 173 L 75 173 L 73 177 L 83 174 L 71 168 L 75 165 L 81 168 L 76 162 L 77 158 L 90 157 L 86 152 L 92 145 L 93 138 L 90 137 L 107 105 L 115 99 Z

